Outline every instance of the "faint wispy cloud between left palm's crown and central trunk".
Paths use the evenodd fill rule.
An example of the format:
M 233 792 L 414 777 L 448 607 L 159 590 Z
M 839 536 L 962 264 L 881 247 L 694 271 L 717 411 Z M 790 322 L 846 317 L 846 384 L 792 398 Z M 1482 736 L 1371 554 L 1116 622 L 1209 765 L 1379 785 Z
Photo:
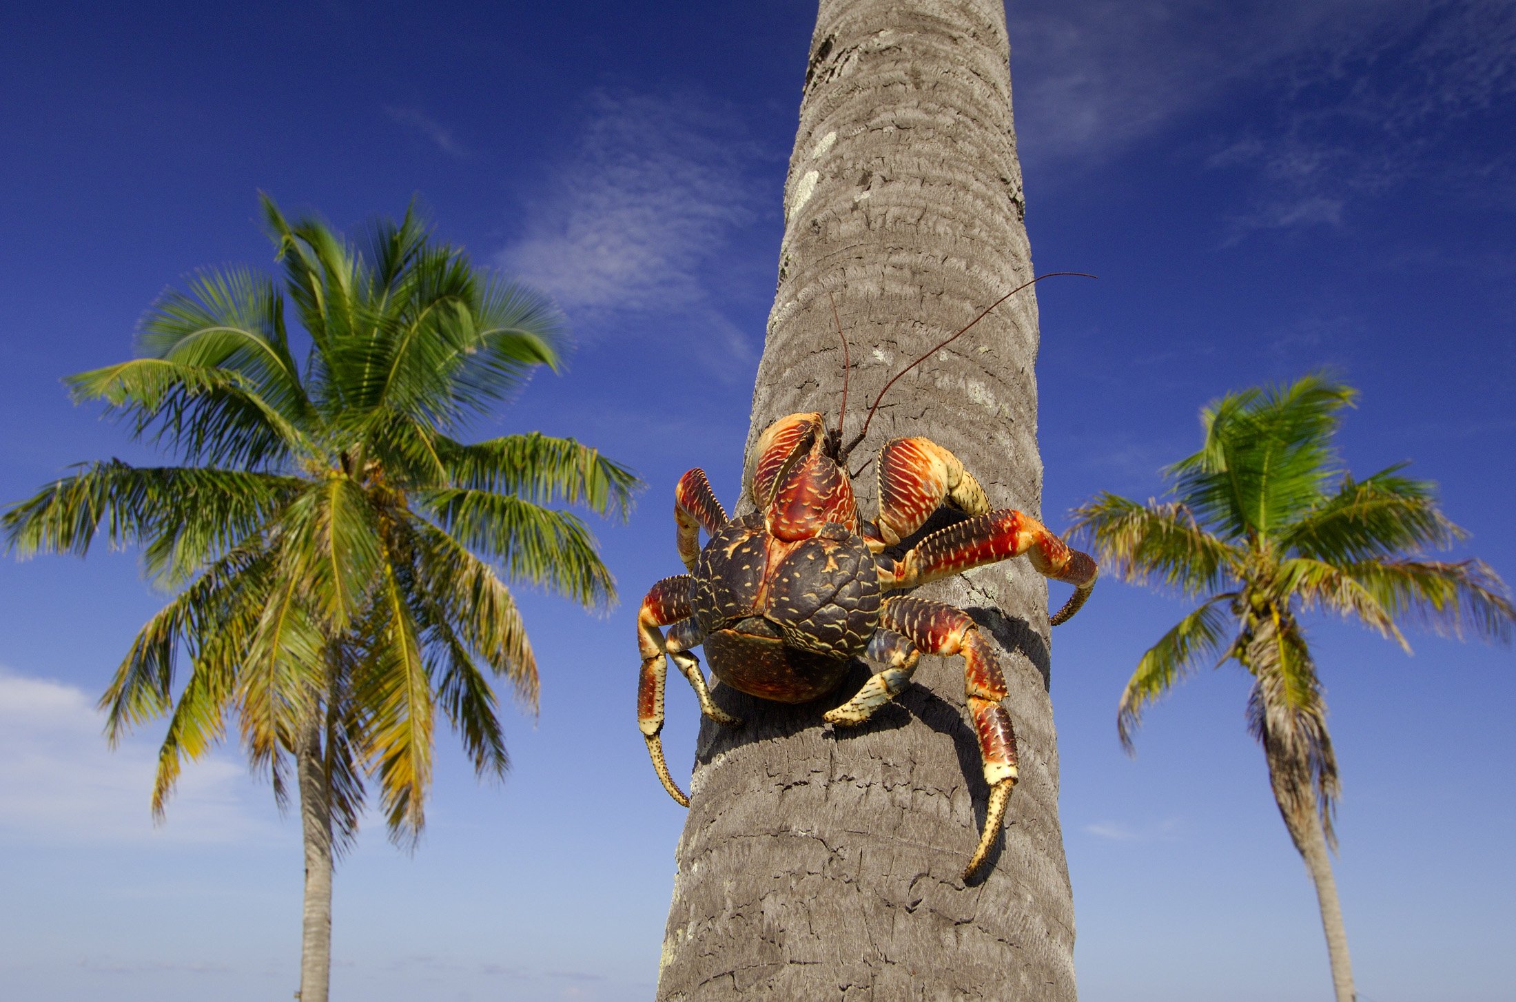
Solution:
M 755 338 L 725 318 L 719 264 L 761 199 L 731 117 L 688 97 L 596 94 L 570 152 L 497 255 L 591 340 L 628 317 L 691 330 L 696 361 L 746 367 Z

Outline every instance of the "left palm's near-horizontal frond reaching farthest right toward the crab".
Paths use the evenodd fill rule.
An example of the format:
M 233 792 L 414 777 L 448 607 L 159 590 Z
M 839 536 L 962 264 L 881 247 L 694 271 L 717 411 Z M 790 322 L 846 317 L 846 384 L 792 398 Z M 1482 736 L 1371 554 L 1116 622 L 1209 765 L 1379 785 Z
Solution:
M 511 494 L 535 505 L 582 503 L 625 521 L 644 485 L 629 468 L 573 438 L 540 432 L 461 444 L 438 437 L 449 487 Z

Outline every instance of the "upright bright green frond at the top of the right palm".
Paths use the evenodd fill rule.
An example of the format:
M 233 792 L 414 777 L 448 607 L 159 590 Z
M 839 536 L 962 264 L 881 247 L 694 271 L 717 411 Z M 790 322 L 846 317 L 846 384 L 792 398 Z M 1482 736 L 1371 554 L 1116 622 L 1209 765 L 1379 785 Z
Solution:
M 1213 402 L 1204 447 L 1167 470 L 1175 497 L 1223 538 L 1273 534 L 1320 500 L 1337 465 L 1337 412 L 1355 397 L 1317 373 Z

